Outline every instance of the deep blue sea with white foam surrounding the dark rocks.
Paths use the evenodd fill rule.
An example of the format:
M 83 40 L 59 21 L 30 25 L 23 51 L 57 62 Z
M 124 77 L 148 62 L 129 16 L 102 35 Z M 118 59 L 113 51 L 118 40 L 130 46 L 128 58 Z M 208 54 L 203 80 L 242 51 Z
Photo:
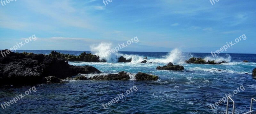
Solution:
M 19 50 L 18 52 L 48 54 L 51 51 Z M 79 55 L 84 51 L 57 51 Z M 90 53 L 90 51 L 85 51 Z M 94 53 L 101 56 L 99 53 Z M 116 63 L 116 58 L 132 58 L 129 63 Z M 148 57 L 148 63 L 140 63 Z M 221 65 L 186 64 L 190 57 L 202 57 L 205 60 L 228 61 Z M 231 93 L 236 102 L 236 113 L 250 110 L 251 98 L 256 98 L 256 78 L 252 70 L 256 68 L 256 54 L 226 54 L 212 57 L 210 53 L 172 52 L 119 52 L 105 57 L 108 62 L 69 62 L 71 65 L 90 65 L 103 74 L 126 71 L 130 73 L 129 81 L 67 81 L 60 84 L 36 85 L 36 92 L 11 104 L 0 113 L 166 113 L 166 114 L 201 114 L 224 113 L 226 103 L 212 109 L 209 104 L 218 102 L 225 94 Z M 248 60 L 249 63 L 243 63 Z M 149 63 L 152 62 L 152 63 Z M 168 62 L 183 65 L 184 71 L 156 70 Z M 221 70 L 221 71 L 218 71 Z M 159 77 L 158 81 L 135 81 L 134 75 L 144 72 Z M 248 73 L 246 75 L 245 73 Z M 94 75 L 84 75 L 92 77 Z M 126 90 L 133 86 L 137 91 L 129 95 Z M 0 103 L 9 102 L 17 94 L 25 94 L 32 86 L 0 89 Z M 237 89 L 238 88 L 238 89 Z M 241 89 L 242 88 L 242 89 Z M 239 90 L 234 94 L 234 90 Z M 243 90 L 243 91 L 242 91 Z M 236 92 L 236 91 L 235 91 Z M 118 96 L 127 94 L 104 109 L 102 103 L 108 103 Z M 234 96 L 233 96 L 234 94 Z M 232 103 L 231 103 L 232 104 Z M 232 105 L 230 104 L 230 110 Z M 254 105 L 256 108 L 256 105 Z

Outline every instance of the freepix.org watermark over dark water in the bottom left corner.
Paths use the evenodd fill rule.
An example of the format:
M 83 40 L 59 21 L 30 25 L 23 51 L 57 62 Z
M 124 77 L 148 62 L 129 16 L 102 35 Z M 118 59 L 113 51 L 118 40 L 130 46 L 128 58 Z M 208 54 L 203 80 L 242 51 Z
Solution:
M 33 92 L 36 92 L 36 87 L 34 86 L 34 87 L 28 89 L 27 91 L 25 91 L 25 94 L 26 94 L 26 95 L 29 95 L 30 93 L 32 93 L 31 90 L 32 90 Z M 10 106 L 10 105 L 13 104 L 13 103 L 16 104 L 16 103 L 18 102 L 18 100 L 22 99 L 22 98 L 25 97 L 26 95 L 22 95 L 22 94 L 20 94 L 19 96 L 16 95 L 17 97 L 14 97 L 13 100 L 10 100 L 10 102 L 4 103 L 4 104 L 1 103 L 1 107 L 2 107 L 3 110 L 4 110 L 4 109 L 7 108 L 6 106 Z

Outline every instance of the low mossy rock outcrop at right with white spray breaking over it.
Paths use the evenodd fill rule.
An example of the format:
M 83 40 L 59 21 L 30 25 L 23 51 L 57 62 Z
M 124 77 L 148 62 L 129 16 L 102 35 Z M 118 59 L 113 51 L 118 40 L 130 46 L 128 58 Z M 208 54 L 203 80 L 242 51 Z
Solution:
M 189 60 L 186 60 L 185 62 L 188 63 L 188 64 L 189 63 L 194 63 L 194 64 L 221 64 L 221 63 L 228 63 L 226 61 L 222 61 L 222 62 L 207 61 L 206 62 L 202 58 L 195 58 L 195 57 L 192 57 Z

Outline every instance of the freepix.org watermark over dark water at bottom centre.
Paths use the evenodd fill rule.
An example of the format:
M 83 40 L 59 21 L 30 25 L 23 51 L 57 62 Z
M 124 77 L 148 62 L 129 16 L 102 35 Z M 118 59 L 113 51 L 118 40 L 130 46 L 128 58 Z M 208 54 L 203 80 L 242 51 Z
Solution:
M 124 93 L 120 94 L 120 95 L 122 96 L 122 98 L 124 98 L 125 96 L 127 96 L 127 95 L 129 95 L 131 92 L 133 92 L 132 89 L 133 89 L 134 91 L 138 91 L 138 88 L 136 87 L 136 85 L 134 85 L 132 88 L 126 90 L 126 94 L 125 94 L 125 95 L 124 95 Z M 108 106 L 111 106 L 112 103 L 113 103 L 113 104 L 114 104 L 114 103 L 118 103 L 118 101 L 122 99 L 120 95 L 118 94 L 118 96 L 117 96 L 116 98 L 112 99 L 112 100 L 109 101 L 108 103 L 105 103 L 105 104 L 102 103 L 102 106 L 104 107 L 104 109 L 108 108 Z M 105 106 L 106 106 L 106 107 L 105 107 Z

